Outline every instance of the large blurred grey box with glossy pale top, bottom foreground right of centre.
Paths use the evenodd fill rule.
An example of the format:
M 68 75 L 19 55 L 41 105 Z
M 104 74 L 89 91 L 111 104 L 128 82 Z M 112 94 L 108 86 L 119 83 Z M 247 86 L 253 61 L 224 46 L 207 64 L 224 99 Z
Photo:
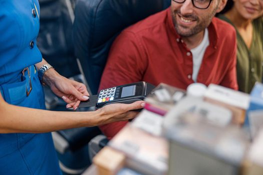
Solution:
M 212 124 L 191 112 L 183 113 L 173 123 L 165 128 L 169 139 L 168 175 L 239 175 L 247 147 L 240 127 Z

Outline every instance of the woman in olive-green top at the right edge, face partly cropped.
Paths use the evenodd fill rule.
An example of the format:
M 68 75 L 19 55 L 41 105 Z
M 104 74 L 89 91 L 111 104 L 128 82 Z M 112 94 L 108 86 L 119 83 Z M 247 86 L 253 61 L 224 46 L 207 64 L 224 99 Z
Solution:
M 263 0 L 228 0 L 223 12 L 218 17 L 236 29 L 239 90 L 250 93 L 262 81 Z

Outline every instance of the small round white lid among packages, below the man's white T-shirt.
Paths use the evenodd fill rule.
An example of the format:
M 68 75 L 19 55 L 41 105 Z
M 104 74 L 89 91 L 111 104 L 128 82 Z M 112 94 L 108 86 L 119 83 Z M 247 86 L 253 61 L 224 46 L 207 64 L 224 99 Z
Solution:
M 187 95 L 195 96 L 195 97 L 202 97 L 206 91 L 206 85 L 195 82 L 188 85 L 186 89 Z

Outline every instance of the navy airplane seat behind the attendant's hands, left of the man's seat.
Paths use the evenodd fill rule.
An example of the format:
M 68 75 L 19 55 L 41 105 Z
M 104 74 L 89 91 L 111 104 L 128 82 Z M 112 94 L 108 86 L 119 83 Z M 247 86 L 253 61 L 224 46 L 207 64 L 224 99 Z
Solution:
M 76 0 L 39 0 L 40 32 L 37 38 L 43 57 L 55 69 L 71 79 L 84 82 L 74 55 L 72 26 Z M 46 107 L 68 111 L 66 102 L 44 87 Z M 85 108 L 79 110 L 92 110 Z M 72 116 L 74 117 L 74 116 Z M 88 142 L 101 134 L 98 127 L 82 127 L 52 132 L 64 174 L 81 174 L 90 165 Z

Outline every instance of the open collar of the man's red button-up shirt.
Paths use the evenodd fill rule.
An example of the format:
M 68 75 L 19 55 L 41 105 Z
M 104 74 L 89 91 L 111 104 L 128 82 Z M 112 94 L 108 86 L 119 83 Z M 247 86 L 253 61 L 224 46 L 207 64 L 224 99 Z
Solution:
M 171 32 L 174 34 L 176 39 L 181 39 L 181 36 L 176 32 L 172 20 L 172 14 L 171 14 L 171 6 L 166 9 L 167 15 L 168 15 L 168 28 L 171 30 Z M 209 33 L 209 42 L 212 44 L 214 48 L 217 47 L 217 40 L 218 40 L 218 29 L 217 29 L 217 23 L 215 21 L 215 18 L 213 17 L 211 23 L 208 25 L 208 33 Z

